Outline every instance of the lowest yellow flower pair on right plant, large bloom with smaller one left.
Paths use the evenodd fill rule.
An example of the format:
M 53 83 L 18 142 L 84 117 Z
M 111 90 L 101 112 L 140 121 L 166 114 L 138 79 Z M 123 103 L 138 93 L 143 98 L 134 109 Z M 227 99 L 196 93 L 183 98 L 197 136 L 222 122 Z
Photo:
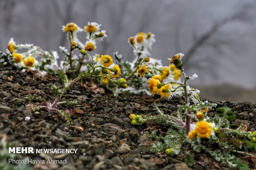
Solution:
M 211 135 L 211 124 L 206 121 L 199 121 L 196 123 L 196 129 L 191 130 L 188 133 L 188 138 L 193 139 L 194 137 L 198 138 L 209 138 Z

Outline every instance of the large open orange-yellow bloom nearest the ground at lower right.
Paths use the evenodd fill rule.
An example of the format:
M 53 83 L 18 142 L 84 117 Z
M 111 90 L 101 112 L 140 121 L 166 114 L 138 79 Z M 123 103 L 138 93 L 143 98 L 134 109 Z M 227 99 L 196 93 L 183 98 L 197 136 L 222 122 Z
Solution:
M 196 124 L 195 131 L 198 138 L 209 138 L 211 135 L 211 125 L 206 121 L 199 121 Z

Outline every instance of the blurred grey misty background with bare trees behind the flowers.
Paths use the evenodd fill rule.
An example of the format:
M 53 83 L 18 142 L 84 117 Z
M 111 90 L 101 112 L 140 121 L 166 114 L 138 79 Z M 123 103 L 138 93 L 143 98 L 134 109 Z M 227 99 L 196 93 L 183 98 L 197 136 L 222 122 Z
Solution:
M 152 32 L 152 57 L 185 54 L 187 75 L 199 76 L 191 85 L 212 101 L 256 103 L 255 0 L 0 0 L 0 51 L 11 37 L 44 50 L 68 46 L 62 26 L 83 28 L 88 21 L 102 24 L 108 37 L 97 42 L 95 53 L 126 60 L 135 56 L 127 43 L 137 32 Z M 85 42 L 85 33 L 78 33 Z

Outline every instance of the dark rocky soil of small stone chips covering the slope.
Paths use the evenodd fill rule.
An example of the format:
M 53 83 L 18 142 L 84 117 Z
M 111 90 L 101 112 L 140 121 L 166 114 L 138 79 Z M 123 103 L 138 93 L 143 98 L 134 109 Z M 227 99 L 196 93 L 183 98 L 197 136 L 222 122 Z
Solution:
M 189 168 L 183 157 L 166 156 L 163 153 L 149 153 L 151 139 L 145 135 L 150 128 L 158 128 L 152 123 L 132 126 L 129 114 L 156 114 L 157 103 L 166 114 L 175 112 L 182 98 L 160 99 L 146 94 L 120 94 L 115 97 L 104 88 L 92 88 L 92 84 L 76 84 L 64 94 L 67 99 L 78 100 L 73 109 L 72 124 L 62 121 L 57 115 L 45 110 L 31 111 L 28 94 L 37 94 L 50 100 L 55 95 L 50 90 L 52 84 L 61 87 L 58 77 L 42 76 L 36 72 L 17 72 L 11 68 L 0 70 L 0 138 L 16 147 L 37 149 L 68 148 L 78 149 L 77 154 L 27 154 L 33 159 L 68 159 L 68 164 L 31 165 L 40 170 L 204 170 L 225 169 L 210 156 L 203 153 L 196 157 L 195 165 Z M 95 93 L 100 92 L 100 93 Z M 256 129 L 256 105 L 249 102 L 216 102 L 217 107 L 228 105 L 237 114 L 232 124 L 239 126 L 245 120 L 248 130 Z M 65 109 L 63 107 L 62 109 Z M 209 115 L 214 116 L 215 110 Z M 25 120 L 29 116 L 30 120 Z M 246 161 L 246 160 L 244 160 Z M 251 168 L 255 168 L 251 166 Z M 226 168 L 228 169 L 228 168 Z

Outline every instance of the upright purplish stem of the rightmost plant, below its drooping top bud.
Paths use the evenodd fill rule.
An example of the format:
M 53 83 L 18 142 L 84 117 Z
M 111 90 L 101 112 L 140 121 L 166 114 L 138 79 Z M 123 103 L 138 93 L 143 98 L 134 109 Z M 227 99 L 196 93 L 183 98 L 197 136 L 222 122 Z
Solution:
M 185 76 L 183 68 L 180 71 L 181 71 L 181 75 L 183 76 L 183 79 L 184 79 L 183 89 L 184 89 L 185 105 L 189 106 L 190 105 L 190 98 L 189 98 L 188 93 L 187 93 L 187 77 Z M 190 114 L 190 112 L 188 114 Z M 186 134 L 188 134 L 190 132 L 190 122 L 191 122 L 190 117 L 186 116 L 186 121 L 185 121 Z

